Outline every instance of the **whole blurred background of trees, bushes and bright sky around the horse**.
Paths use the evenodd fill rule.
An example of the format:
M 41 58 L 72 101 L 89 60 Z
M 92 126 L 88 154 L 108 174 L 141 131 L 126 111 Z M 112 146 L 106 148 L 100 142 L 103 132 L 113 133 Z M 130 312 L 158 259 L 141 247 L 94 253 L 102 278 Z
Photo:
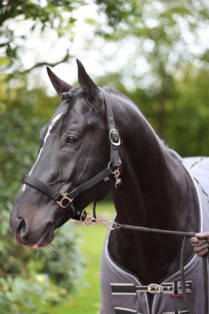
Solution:
M 75 58 L 81 59 L 98 85 L 116 87 L 139 105 L 178 154 L 208 156 L 208 12 L 207 0 L 1 1 L 1 313 L 82 313 L 84 308 L 75 306 L 85 265 L 81 251 L 87 261 L 96 254 L 96 274 L 99 269 L 100 226 L 95 226 L 101 240 L 95 250 L 79 245 L 80 227 L 70 222 L 42 256 L 15 244 L 8 230 L 22 174 L 29 172 L 38 152 L 40 128 L 59 103 L 45 66 L 76 84 Z M 114 211 L 112 205 L 108 211 Z M 92 241 L 95 236 L 86 237 Z M 82 295 L 79 302 L 88 298 Z M 99 302 L 99 294 L 95 298 Z M 66 299 L 68 307 L 53 312 Z M 97 313 L 99 304 L 88 304 L 85 311 Z

